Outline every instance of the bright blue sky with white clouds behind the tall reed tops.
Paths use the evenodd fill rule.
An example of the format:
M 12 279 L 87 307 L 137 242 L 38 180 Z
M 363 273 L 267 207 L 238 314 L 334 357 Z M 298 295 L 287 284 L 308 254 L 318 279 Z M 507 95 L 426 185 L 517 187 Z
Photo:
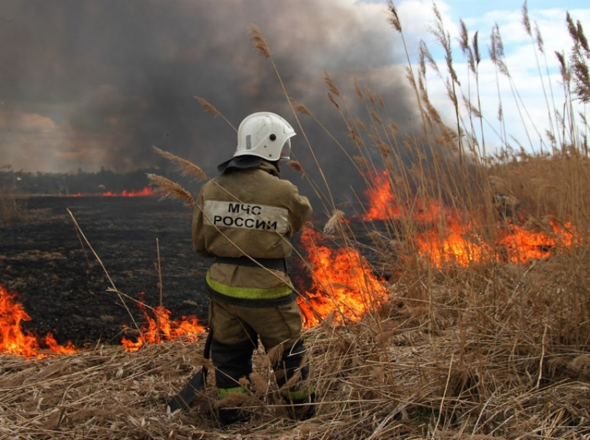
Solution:
M 387 3 L 387 1 L 371 3 Z M 553 111 L 555 108 L 562 109 L 566 101 L 555 56 L 555 51 L 567 55 L 571 48 L 571 39 L 566 30 L 566 11 L 571 13 L 575 21 L 580 21 L 582 26 L 587 25 L 584 32 L 588 36 L 590 35 L 588 2 L 528 1 L 531 25 L 538 26 L 541 31 L 544 57 L 534 49 L 535 44 L 531 42 L 531 38 L 523 28 L 524 2 L 446 0 L 435 3 L 453 43 L 453 65 L 460 76 L 464 94 L 469 94 L 467 88 L 470 81 L 473 84 L 473 78 L 468 78 L 465 60 L 457 44 L 457 38 L 460 35 L 458 27 L 460 19 L 466 24 L 470 37 L 478 31 L 480 52 L 483 57 L 480 64 L 480 96 L 483 113 L 487 120 L 485 136 L 489 147 L 495 147 L 502 136 L 499 134 L 502 127 L 497 117 L 501 103 L 505 116 L 505 139 L 509 139 L 513 146 L 523 146 L 528 152 L 546 151 L 548 145 L 544 133 L 552 127 L 552 124 L 557 125 L 555 121 L 549 120 L 549 114 L 555 114 Z M 434 19 L 432 1 L 403 0 L 395 1 L 394 4 L 402 22 L 412 62 L 417 60 L 418 42 L 423 40 L 440 63 L 441 70 L 444 70 L 444 53 L 428 30 Z M 496 82 L 496 70 L 489 60 L 490 35 L 495 25 L 498 25 L 503 40 L 505 62 L 512 76 L 512 85 L 503 76 L 500 76 Z M 539 69 L 541 75 L 539 75 Z M 452 115 L 453 111 L 444 91 L 444 83 L 438 82 L 440 87 L 437 87 L 439 78 L 435 75 L 430 75 L 428 78 L 431 100 L 443 116 Z M 498 93 L 500 93 L 500 99 L 498 99 Z M 551 102 L 549 105 L 548 101 Z M 578 107 L 577 111 L 585 112 L 586 110 Z

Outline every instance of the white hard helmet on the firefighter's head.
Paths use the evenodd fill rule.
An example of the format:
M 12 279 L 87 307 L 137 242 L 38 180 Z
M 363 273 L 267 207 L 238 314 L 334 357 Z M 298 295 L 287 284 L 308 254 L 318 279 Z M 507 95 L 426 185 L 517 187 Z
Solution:
M 289 160 L 293 127 L 271 112 L 246 116 L 237 129 L 237 149 L 233 157 L 258 156 L 267 161 Z

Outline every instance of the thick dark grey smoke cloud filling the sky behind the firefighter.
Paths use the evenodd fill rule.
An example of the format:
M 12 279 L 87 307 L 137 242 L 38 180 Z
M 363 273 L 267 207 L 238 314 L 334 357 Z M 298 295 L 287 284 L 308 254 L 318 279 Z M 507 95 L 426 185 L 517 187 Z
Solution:
M 271 62 L 248 25 L 264 33 L 290 96 L 350 145 L 326 97 L 328 71 L 348 105 L 353 80 L 377 89 L 399 125 L 413 114 L 406 80 L 390 67 L 401 45 L 385 2 L 353 0 L 4 0 L 0 10 L 0 162 L 25 170 L 101 167 L 123 173 L 161 164 L 158 146 L 206 173 L 230 157 L 235 132 L 203 112 L 208 100 L 233 124 L 269 110 L 296 126 Z M 355 109 L 360 116 L 362 107 Z M 339 148 L 307 116 L 322 166 L 347 188 Z M 296 157 L 316 173 L 299 134 Z M 330 173 L 330 170 L 338 173 Z M 351 171 L 352 173 L 352 171 Z M 348 173 L 348 176 L 351 174 Z

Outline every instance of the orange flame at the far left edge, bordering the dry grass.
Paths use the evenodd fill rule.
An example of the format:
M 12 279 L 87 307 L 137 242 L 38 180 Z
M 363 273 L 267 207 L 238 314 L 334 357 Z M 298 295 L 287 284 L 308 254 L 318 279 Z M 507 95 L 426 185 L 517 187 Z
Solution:
M 15 301 L 16 294 L 8 292 L 0 285 L 0 354 L 26 356 L 28 358 L 44 358 L 53 354 L 76 353 L 71 342 L 59 345 L 51 333 L 47 333 L 41 341 L 28 331 L 23 331 L 21 323 L 30 321 L 31 317 L 23 306 Z M 47 349 L 41 349 L 41 344 Z

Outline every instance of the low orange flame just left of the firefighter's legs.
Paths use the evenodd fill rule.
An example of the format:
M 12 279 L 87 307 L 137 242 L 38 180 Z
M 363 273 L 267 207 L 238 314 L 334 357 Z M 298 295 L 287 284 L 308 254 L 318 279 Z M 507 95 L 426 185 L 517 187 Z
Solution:
M 199 340 L 199 333 L 205 331 L 205 327 L 199 324 L 194 316 L 182 317 L 181 319 L 170 319 L 170 310 L 164 306 L 155 306 L 152 309 L 154 317 L 149 315 L 143 301 L 143 292 L 140 295 L 140 302 L 137 303 L 146 319 L 146 324 L 140 330 L 137 340 L 130 340 L 123 337 L 125 351 L 134 353 L 146 344 L 161 344 L 165 341 L 174 341 L 180 337 L 186 337 L 187 342 Z

